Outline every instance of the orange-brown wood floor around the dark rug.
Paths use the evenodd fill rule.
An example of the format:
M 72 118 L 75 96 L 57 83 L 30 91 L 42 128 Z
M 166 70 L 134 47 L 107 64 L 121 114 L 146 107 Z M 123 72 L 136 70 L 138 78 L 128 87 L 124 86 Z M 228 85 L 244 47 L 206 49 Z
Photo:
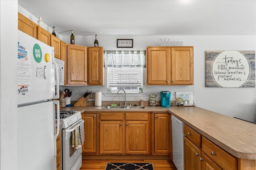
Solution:
M 154 170 L 177 170 L 169 156 L 86 156 L 80 170 L 105 170 L 107 162 L 149 162 Z

